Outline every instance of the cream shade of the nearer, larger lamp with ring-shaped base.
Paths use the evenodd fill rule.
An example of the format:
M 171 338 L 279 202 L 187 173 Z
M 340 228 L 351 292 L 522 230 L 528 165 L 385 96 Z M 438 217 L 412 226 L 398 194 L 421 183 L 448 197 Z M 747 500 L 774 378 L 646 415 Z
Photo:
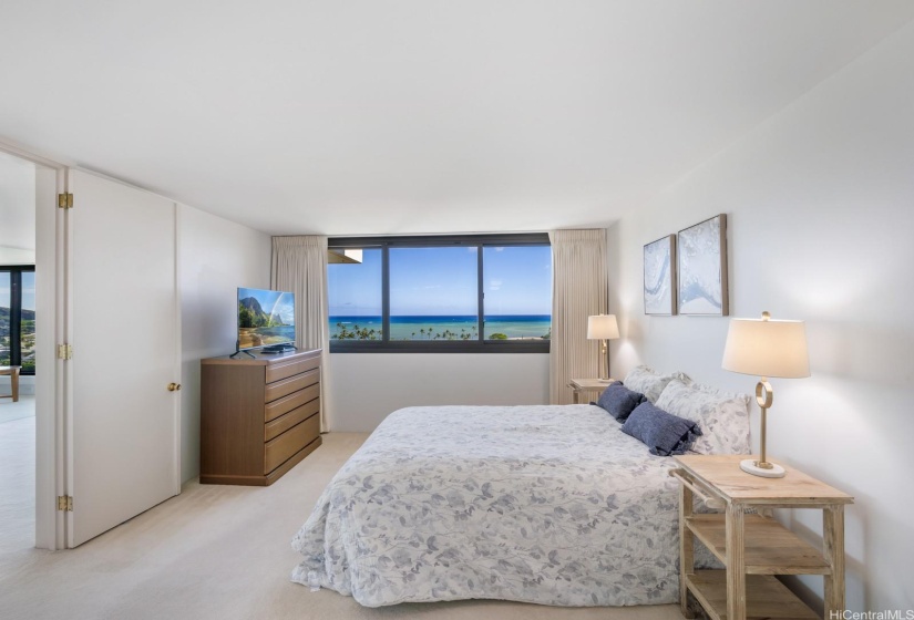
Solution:
M 731 319 L 722 365 L 725 370 L 756 376 L 809 376 L 805 323 Z

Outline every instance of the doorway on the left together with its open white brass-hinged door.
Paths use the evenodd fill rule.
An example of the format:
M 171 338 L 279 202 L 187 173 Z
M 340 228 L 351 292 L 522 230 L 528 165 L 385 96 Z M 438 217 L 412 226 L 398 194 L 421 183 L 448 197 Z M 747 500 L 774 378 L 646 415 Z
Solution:
M 22 524 L 0 531 L 0 551 L 74 547 L 181 493 L 179 399 L 167 389 L 181 368 L 176 209 L 0 144 L 0 265 L 17 267 L 4 308 L 20 326 L 7 331 L 28 331 L 9 365 L 27 366 L 23 407 L 34 394 L 9 416 L 24 420 L 6 433 L 17 448 L 0 446 L 16 459 L 0 463 L 0 517 Z M 112 296 L 104 308 L 116 311 L 100 318 Z M 8 383 L 0 375 L 0 394 Z

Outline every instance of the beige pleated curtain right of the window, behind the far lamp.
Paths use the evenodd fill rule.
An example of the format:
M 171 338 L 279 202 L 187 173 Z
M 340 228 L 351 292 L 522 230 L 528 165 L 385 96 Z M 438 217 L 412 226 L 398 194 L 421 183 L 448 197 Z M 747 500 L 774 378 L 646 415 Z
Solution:
M 606 313 L 606 230 L 555 230 L 552 242 L 550 402 L 573 402 L 571 379 L 599 376 L 599 341 L 587 340 L 587 317 Z

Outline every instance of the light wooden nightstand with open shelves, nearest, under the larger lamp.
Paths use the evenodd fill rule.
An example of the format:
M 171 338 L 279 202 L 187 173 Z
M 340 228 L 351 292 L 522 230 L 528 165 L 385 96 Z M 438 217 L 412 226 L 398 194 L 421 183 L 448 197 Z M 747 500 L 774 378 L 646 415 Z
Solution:
M 713 620 L 819 618 L 774 575 L 822 575 L 825 618 L 844 610 L 844 505 L 853 497 L 784 467 L 783 478 L 752 476 L 739 468 L 744 455 L 677 456 L 679 478 L 679 590 L 686 618 L 691 595 Z M 692 514 L 698 495 L 723 514 Z M 823 549 L 801 540 L 777 520 L 746 508 L 822 510 Z M 726 567 L 695 570 L 695 538 Z M 832 616 L 833 617 L 833 616 Z

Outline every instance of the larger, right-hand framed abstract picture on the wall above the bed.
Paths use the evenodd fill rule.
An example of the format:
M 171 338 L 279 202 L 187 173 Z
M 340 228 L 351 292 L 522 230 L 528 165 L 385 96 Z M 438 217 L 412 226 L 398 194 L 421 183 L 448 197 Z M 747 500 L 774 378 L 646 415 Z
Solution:
M 679 313 L 727 317 L 727 214 L 679 231 Z

